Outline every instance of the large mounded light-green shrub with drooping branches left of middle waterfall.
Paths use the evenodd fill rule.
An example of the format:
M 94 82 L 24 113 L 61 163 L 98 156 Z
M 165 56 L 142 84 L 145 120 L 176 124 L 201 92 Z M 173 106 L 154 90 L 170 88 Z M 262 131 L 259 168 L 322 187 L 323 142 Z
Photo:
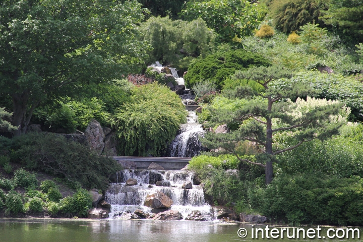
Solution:
M 156 83 L 135 87 L 132 102 L 115 114 L 120 155 L 158 156 L 186 122 L 186 111 L 175 92 Z

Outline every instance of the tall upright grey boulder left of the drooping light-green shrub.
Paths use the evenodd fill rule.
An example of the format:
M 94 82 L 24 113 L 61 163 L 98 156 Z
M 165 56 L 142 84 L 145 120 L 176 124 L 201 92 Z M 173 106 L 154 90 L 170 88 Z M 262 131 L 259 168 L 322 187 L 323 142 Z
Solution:
M 106 136 L 97 120 L 91 120 L 86 128 L 85 136 L 90 148 L 100 155 L 104 148 L 103 140 L 106 138 Z

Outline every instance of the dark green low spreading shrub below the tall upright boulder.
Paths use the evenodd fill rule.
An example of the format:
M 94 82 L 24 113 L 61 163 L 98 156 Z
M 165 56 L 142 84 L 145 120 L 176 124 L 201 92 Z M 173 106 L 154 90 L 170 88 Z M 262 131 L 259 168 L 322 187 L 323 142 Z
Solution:
M 85 145 L 51 133 L 15 137 L 13 149 L 14 161 L 20 161 L 27 168 L 66 177 L 85 188 L 106 188 L 109 175 L 121 169 L 112 158 L 99 156 Z

